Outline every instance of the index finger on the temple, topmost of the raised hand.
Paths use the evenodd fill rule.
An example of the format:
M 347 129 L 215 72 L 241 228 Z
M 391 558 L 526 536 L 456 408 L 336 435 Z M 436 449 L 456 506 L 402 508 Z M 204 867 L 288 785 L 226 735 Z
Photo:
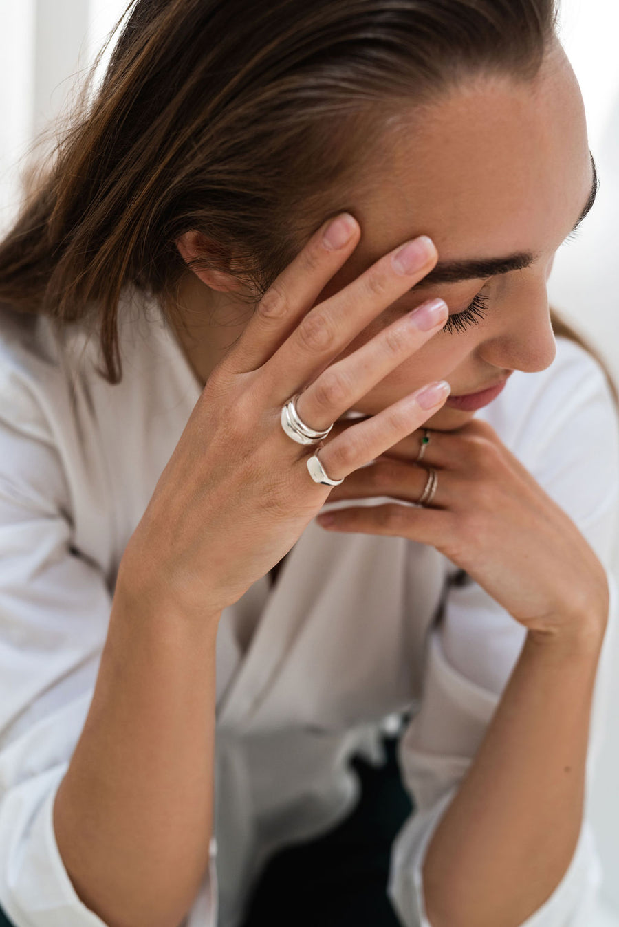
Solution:
M 259 301 L 236 345 L 226 356 L 233 373 L 257 370 L 313 306 L 360 239 L 360 226 L 347 212 L 324 222 Z

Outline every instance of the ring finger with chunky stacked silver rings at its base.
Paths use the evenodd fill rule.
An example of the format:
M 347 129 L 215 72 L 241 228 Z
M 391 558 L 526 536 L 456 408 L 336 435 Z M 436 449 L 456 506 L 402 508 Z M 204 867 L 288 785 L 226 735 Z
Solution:
M 447 317 L 448 308 L 442 299 L 428 300 L 342 361 L 327 367 L 297 400 L 301 420 L 316 430 L 328 428 L 420 349 Z

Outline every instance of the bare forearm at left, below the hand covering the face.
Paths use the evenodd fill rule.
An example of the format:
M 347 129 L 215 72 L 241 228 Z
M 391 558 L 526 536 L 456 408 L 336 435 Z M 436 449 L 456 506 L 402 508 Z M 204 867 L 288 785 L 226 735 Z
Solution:
M 178 927 L 208 866 L 219 616 L 197 626 L 117 586 L 54 826 L 83 903 L 110 927 Z

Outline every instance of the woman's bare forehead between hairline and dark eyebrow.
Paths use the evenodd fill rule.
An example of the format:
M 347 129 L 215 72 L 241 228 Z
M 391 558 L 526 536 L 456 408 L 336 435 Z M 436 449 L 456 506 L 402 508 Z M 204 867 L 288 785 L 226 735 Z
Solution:
M 556 248 L 590 188 L 582 97 L 560 46 L 533 82 L 479 77 L 398 113 L 379 147 L 356 209 L 363 260 L 422 233 L 441 260 Z

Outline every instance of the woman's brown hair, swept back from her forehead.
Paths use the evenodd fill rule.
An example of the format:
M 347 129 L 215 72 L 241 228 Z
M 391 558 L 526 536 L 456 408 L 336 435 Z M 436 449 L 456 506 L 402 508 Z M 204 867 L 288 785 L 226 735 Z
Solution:
M 556 18 L 555 0 L 133 0 L 101 86 L 87 103 L 106 48 L 0 244 L 0 301 L 58 325 L 94 319 L 99 373 L 118 383 L 120 293 L 135 287 L 174 314 L 180 235 L 201 232 L 201 263 L 261 295 L 328 215 L 350 209 L 398 104 L 479 72 L 532 79 Z M 619 403 L 597 352 L 551 319 L 596 357 Z

